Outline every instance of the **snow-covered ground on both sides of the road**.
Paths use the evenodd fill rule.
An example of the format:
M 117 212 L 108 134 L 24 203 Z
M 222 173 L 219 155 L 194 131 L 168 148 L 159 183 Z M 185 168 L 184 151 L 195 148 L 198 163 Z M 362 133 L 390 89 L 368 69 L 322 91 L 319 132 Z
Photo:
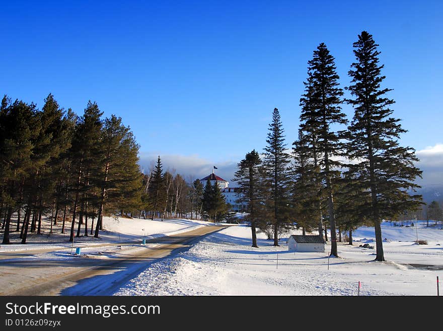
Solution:
M 207 225 L 214 224 L 185 219 L 162 222 L 109 217 L 104 219 L 105 231 L 100 232 L 100 239 L 75 238 L 74 249 L 82 247 L 82 255 L 75 256 L 70 254 L 69 234 L 60 234 L 57 225 L 49 235 L 49 224 L 45 220 L 45 234 L 30 234 L 26 245 L 20 244 L 18 233 L 12 233 L 11 241 L 15 244 L 0 246 L 0 264 L 2 255 L 8 259 L 75 258 L 79 262 L 81 257 L 112 258 L 128 249 L 140 249 L 143 238 Z M 357 295 L 360 282 L 360 295 L 435 295 L 436 276 L 443 279 L 443 230 L 440 224 L 425 225 L 419 222 L 418 228 L 417 224 L 399 227 L 384 222 L 382 235 L 386 238 L 383 246 L 387 262 L 374 261 L 375 249 L 358 247 L 363 243 L 375 246 L 374 228 L 361 227 L 353 233 L 353 246 L 339 243 L 340 257 L 329 259 L 329 270 L 329 243 L 325 253 L 293 253 L 287 250 L 287 238 L 280 241 L 280 247 L 274 247 L 260 233 L 260 247 L 252 248 L 250 228 L 231 226 L 206 236 L 187 251 L 151 263 L 123 287 L 117 288 L 115 294 Z M 428 244 L 417 245 L 414 242 L 417 236 Z M 14 255 L 14 251 L 24 249 L 29 254 Z M 38 251 L 41 249 L 48 251 Z

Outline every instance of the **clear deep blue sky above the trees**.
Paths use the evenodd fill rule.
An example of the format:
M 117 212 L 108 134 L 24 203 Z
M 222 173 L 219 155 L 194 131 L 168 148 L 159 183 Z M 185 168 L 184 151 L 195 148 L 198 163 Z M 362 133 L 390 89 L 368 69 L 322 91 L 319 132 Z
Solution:
M 132 128 L 146 166 L 160 154 L 178 172 L 231 165 L 231 176 L 233 164 L 264 147 L 274 107 L 291 143 L 313 50 L 326 43 L 344 87 L 362 30 L 380 44 L 394 115 L 408 130 L 402 145 L 443 142 L 442 2 L 0 5 L 0 94 L 41 107 L 52 93 L 79 114 L 97 101 Z

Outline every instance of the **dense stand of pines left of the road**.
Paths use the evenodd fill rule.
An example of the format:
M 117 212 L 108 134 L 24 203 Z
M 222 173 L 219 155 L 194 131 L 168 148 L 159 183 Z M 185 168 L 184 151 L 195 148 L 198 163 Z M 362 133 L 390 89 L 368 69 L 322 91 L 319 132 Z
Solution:
M 102 120 L 102 114 L 91 101 L 78 116 L 61 108 L 52 94 L 42 109 L 5 95 L 0 106 L 4 244 L 14 231 L 23 244 L 29 232 L 41 234 L 43 216 L 50 217 L 50 233 L 61 222 L 69 241 L 82 233 L 98 237 L 104 213 L 139 208 L 139 146 L 120 117 Z

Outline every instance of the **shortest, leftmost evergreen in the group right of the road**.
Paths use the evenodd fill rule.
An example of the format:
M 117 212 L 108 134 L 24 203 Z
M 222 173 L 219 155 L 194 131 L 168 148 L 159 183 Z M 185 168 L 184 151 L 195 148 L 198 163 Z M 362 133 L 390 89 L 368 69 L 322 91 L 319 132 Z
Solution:
M 245 217 L 245 220 L 251 222 L 252 247 L 258 247 L 255 228 L 258 226 L 262 209 L 260 204 L 260 164 L 260 155 L 255 150 L 252 150 L 237 164 L 237 171 L 233 179 L 233 181 L 238 183 L 241 190 L 237 203 L 246 203 L 247 205 L 246 212 L 248 215 Z

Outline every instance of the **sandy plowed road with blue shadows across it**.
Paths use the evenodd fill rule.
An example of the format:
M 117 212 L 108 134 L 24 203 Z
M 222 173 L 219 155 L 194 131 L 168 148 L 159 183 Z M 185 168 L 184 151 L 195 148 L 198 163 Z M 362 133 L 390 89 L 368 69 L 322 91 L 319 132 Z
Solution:
M 109 250 L 79 256 L 60 251 L 2 259 L 0 295 L 111 295 L 156 259 L 224 228 L 203 226 L 151 240 L 154 244 L 108 245 Z

